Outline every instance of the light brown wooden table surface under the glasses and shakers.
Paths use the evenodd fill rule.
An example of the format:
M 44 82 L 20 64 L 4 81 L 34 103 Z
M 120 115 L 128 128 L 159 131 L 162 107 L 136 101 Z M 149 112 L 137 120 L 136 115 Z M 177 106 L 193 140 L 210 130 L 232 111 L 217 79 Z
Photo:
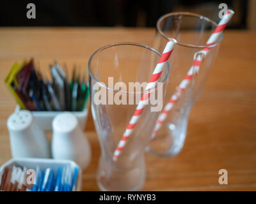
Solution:
M 4 28 L 0 29 L 0 164 L 11 156 L 6 120 L 15 100 L 3 81 L 13 62 L 33 56 L 40 66 L 58 61 L 87 66 L 97 48 L 114 41 L 152 45 L 154 29 Z M 176 157 L 147 154 L 143 190 L 256 189 L 256 33 L 225 31 L 218 59 L 189 117 L 188 138 Z M 86 135 L 93 157 L 84 171 L 83 190 L 98 190 L 95 172 L 99 142 L 88 118 Z M 228 171 L 228 184 L 218 184 L 218 171 Z

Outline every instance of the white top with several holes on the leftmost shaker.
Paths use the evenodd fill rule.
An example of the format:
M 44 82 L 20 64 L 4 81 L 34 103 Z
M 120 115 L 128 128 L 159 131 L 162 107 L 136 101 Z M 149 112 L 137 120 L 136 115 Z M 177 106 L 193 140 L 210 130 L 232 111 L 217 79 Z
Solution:
M 20 110 L 12 113 L 7 120 L 8 129 L 11 131 L 21 131 L 28 128 L 33 122 L 33 115 L 28 110 Z

